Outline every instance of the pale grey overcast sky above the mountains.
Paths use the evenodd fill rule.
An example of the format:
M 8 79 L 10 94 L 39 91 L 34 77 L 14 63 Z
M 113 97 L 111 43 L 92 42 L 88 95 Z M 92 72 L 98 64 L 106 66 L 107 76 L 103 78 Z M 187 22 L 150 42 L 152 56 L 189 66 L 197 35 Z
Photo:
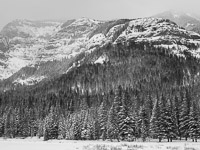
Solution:
M 151 16 L 166 10 L 200 15 L 200 0 L 0 0 L 0 29 L 14 19 L 117 19 Z

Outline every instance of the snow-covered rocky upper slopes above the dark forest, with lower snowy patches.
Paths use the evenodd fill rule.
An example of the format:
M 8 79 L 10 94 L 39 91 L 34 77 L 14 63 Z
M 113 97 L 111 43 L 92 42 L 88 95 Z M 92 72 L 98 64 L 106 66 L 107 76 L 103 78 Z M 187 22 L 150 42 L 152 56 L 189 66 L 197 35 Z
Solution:
M 167 19 L 139 18 L 102 22 L 81 18 L 64 24 L 50 23 L 51 27 L 45 26 L 43 29 L 32 27 L 27 21 L 16 24 L 15 26 L 20 26 L 19 32 L 14 31 L 17 36 L 11 34 L 14 27 L 10 29 L 11 31 L 7 29 L 8 27 L 3 29 L 9 31 L 11 48 L 3 53 L 6 59 L 0 61 L 0 65 L 5 64 L 0 67 L 0 79 L 12 77 L 25 66 L 34 67 L 41 63 L 44 65 L 47 62 L 71 59 L 82 52 L 90 54 L 96 48 L 108 43 L 115 45 L 131 41 L 148 42 L 154 47 L 168 48 L 171 53 L 180 57 L 184 57 L 183 51 L 190 51 L 195 57 L 200 56 L 200 51 L 194 49 L 200 44 L 200 35 L 187 31 Z M 27 27 L 29 25 L 31 27 Z M 21 26 L 25 26 L 24 29 Z M 21 31 L 24 31 L 23 34 L 20 34 Z M 28 37 L 24 37 L 24 33 Z M 108 61 L 105 55 L 100 56 L 93 63 L 102 64 L 104 61 Z M 69 67 L 72 68 L 72 66 Z M 66 73 L 69 67 L 59 73 Z M 42 75 L 33 73 L 26 76 L 23 71 L 23 79 L 21 76 L 16 76 L 12 82 L 33 84 L 48 77 L 48 73 Z

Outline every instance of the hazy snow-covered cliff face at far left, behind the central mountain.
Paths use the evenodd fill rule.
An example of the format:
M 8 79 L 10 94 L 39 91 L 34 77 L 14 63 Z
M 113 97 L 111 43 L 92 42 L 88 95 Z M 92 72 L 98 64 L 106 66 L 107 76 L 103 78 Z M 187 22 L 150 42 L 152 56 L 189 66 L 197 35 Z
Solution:
M 6 46 L 3 50 L 5 64 L 0 69 L 0 79 L 5 79 L 20 68 L 33 63 L 38 52 L 48 39 L 59 29 L 61 22 L 15 20 L 8 23 L 1 31 Z M 1 44 L 2 45 L 2 44 Z

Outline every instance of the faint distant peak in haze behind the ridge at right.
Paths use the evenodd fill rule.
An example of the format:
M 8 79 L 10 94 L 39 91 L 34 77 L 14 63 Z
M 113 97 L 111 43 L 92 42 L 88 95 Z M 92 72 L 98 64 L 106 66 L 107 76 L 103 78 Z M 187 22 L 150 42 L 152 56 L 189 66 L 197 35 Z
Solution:
M 200 17 L 191 13 L 166 11 L 153 17 L 169 19 L 187 30 L 200 33 Z

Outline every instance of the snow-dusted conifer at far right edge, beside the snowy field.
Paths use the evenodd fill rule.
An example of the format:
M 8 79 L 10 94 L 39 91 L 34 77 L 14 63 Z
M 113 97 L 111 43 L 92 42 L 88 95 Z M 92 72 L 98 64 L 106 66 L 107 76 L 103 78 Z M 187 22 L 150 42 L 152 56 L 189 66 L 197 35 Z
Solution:
M 198 110 L 193 102 L 190 107 L 189 113 L 189 136 L 192 138 L 192 141 L 197 142 L 197 138 L 200 136 L 200 124 L 198 117 Z

